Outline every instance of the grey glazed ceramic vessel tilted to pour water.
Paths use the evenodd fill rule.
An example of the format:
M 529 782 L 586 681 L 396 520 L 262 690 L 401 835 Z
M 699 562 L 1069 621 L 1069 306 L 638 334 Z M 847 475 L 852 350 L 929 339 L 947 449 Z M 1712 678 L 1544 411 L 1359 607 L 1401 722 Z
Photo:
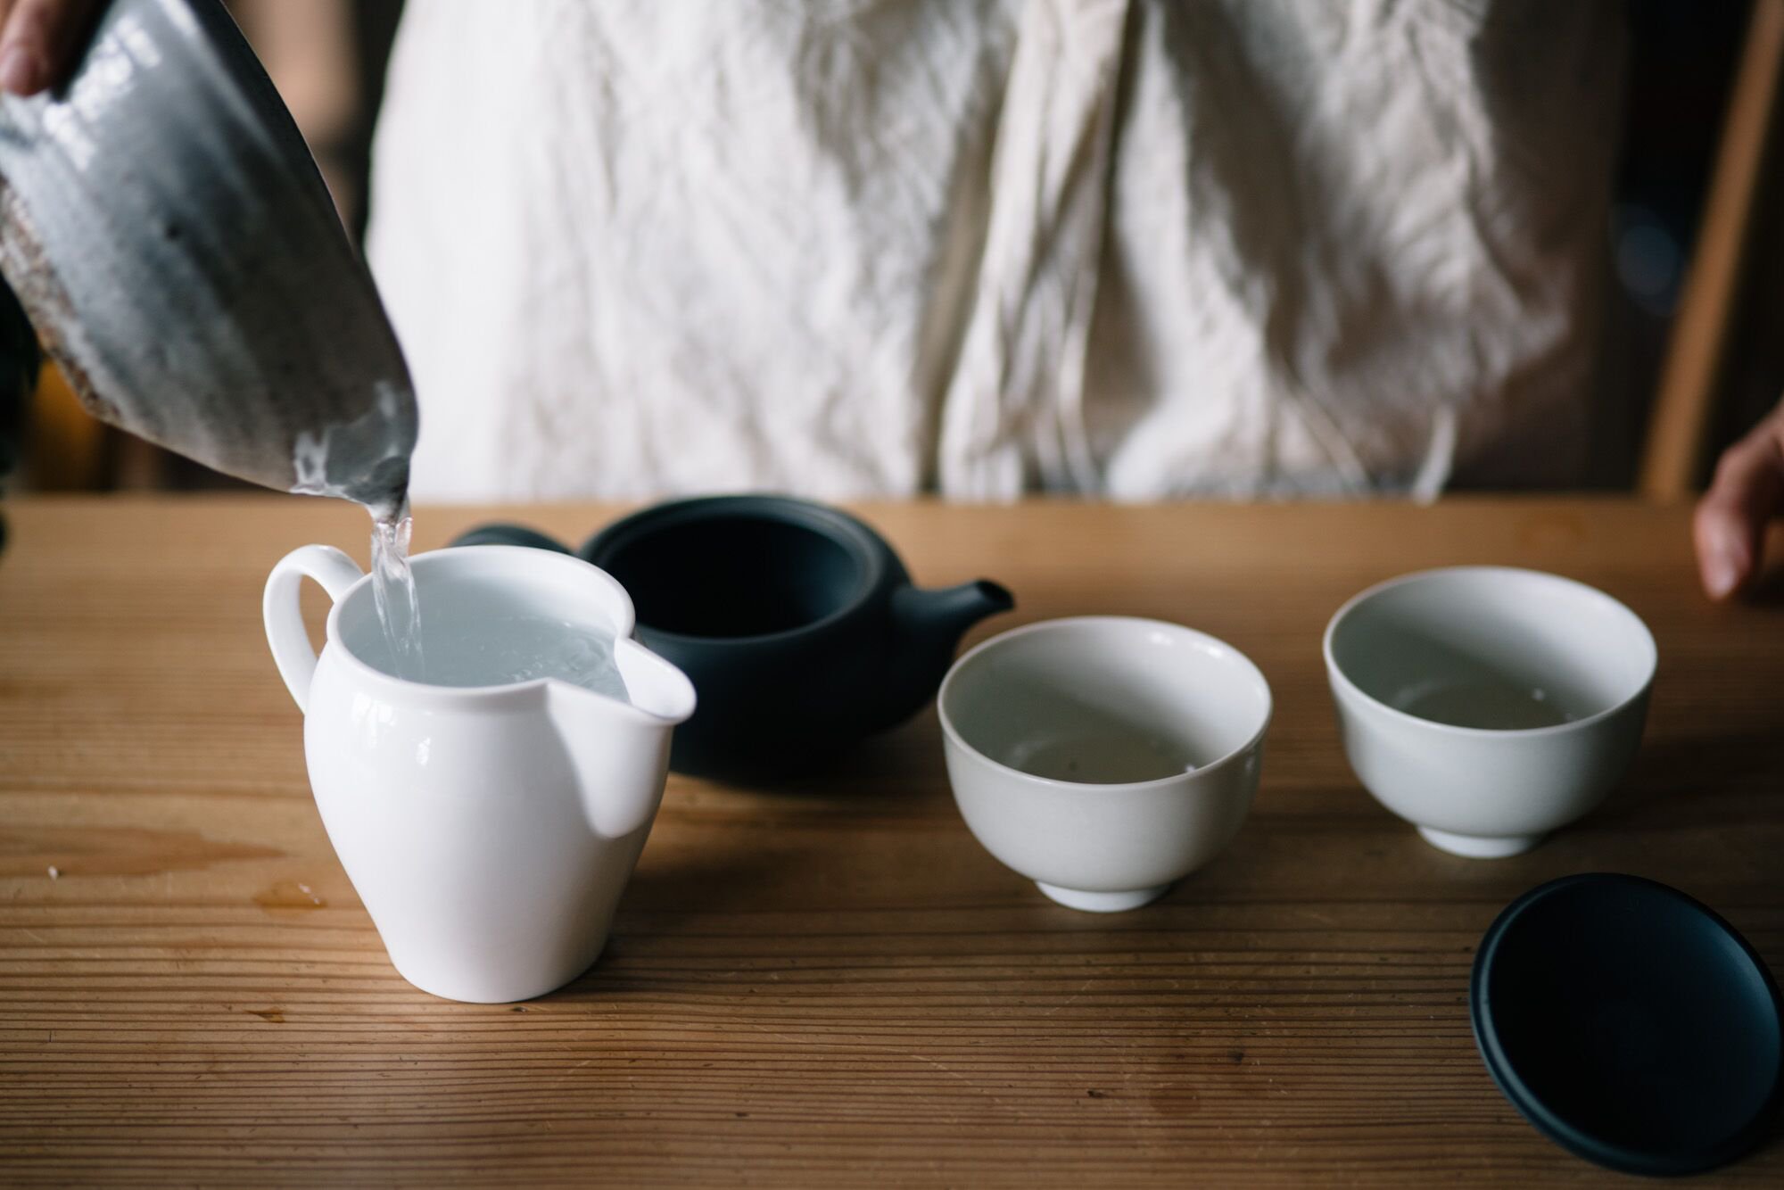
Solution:
M 280 491 L 407 487 L 396 337 L 216 0 L 112 0 L 64 87 L 0 98 L 0 271 L 103 421 Z

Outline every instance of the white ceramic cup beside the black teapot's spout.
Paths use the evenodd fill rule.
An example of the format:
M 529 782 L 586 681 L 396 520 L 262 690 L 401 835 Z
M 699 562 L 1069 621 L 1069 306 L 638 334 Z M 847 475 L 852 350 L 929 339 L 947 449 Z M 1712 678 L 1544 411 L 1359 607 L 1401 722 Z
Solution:
M 937 705 L 954 801 L 985 849 L 1061 905 L 1117 912 L 1238 833 L 1270 687 L 1201 632 L 1086 616 L 992 637 Z

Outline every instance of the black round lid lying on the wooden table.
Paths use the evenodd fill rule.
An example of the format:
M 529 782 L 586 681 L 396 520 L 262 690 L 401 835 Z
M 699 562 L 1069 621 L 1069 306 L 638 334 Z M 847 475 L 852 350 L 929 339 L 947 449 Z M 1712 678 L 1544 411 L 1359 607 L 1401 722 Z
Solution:
M 1632 1174 L 1693 1174 L 1766 1138 L 1784 1037 L 1764 962 L 1677 888 L 1593 872 L 1532 888 L 1481 940 L 1474 1040 L 1531 1124 Z

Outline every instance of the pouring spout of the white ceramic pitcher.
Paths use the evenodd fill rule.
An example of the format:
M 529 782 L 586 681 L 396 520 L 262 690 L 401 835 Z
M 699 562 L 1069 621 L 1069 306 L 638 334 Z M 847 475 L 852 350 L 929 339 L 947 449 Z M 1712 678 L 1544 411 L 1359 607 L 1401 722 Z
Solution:
M 669 737 L 694 714 L 694 685 L 635 640 L 614 642 L 628 699 L 567 682 L 546 683 L 546 714 L 582 794 L 583 815 L 603 839 L 651 824 L 669 773 Z

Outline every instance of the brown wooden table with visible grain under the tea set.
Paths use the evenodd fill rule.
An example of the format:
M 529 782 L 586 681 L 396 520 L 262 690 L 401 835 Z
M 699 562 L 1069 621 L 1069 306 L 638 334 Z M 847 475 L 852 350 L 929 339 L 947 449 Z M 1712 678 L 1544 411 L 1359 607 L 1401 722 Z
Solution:
M 612 510 L 508 510 L 580 537 Z M 357 508 L 14 500 L 0 557 L 0 1183 L 1593 1183 L 1468 1029 L 1483 930 L 1611 869 L 1784 971 L 1784 617 L 1695 585 L 1684 510 L 867 508 L 921 582 L 1015 623 L 1160 616 L 1276 690 L 1238 840 L 1163 901 L 1076 913 L 995 864 L 933 714 L 774 790 L 671 778 L 607 956 L 528 1004 L 389 967 L 303 774 L 260 582 Z M 417 548 L 489 510 L 430 508 Z M 1572 574 L 1654 628 L 1636 773 L 1536 851 L 1441 855 L 1352 780 L 1318 640 L 1452 562 Z M 316 610 L 321 610 L 318 598 Z M 1718 1181 L 1784 1178 L 1784 1145 Z

